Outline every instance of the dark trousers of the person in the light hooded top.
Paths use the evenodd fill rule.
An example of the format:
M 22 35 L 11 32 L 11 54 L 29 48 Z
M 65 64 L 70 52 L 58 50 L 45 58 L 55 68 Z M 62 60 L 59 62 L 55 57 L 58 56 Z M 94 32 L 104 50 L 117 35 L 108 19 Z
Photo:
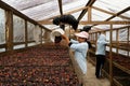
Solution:
M 95 67 L 95 75 L 96 77 L 100 77 L 101 76 L 101 71 L 102 71 L 102 68 L 105 63 L 105 56 L 104 55 L 96 55 L 96 67 Z

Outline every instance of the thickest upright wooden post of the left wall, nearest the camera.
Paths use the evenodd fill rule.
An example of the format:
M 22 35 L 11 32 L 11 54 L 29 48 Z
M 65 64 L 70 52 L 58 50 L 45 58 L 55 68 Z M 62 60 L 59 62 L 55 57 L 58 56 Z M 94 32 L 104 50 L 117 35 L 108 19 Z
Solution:
M 13 51 L 13 13 L 11 11 L 5 11 L 5 51 Z

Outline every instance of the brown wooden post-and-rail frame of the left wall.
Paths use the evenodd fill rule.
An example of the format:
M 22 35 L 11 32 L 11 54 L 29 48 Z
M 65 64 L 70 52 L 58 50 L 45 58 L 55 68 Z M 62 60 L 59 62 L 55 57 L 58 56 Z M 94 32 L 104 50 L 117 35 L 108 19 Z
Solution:
M 6 3 L 4 3 L 2 1 L 0 1 L 0 9 L 4 10 L 4 12 L 5 12 L 5 44 L 0 44 L 0 48 L 5 48 L 5 52 L 12 52 L 13 47 L 15 45 L 21 45 L 21 44 L 25 44 L 25 48 L 26 48 L 26 47 L 28 47 L 28 45 L 27 45 L 28 43 L 35 42 L 35 41 L 27 40 L 27 37 L 28 37 L 28 34 L 27 34 L 27 22 L 30 22 L 35 26 L 39 26 L 41 29 L 44 29 L 46 32 L 51 32 L 51 30 L 49 30 L 48 28 L 46 28 L 42 25 L 38 24 L 37 22 L 28 18 L 27 16 L 25 16 L 24 14 L 22 14 L 21 12 L 16 11 L 15 9 L 13 9 L 12 6 L 8 5 Z M 14 14 L 25 20 L 25 26 L 24 26 L 24 28 L 25 28 L 25 41 L 24 42 L 13 43 L 13 15 Z M 42 42 L 40 42 L 40 43 L 42 43 Z

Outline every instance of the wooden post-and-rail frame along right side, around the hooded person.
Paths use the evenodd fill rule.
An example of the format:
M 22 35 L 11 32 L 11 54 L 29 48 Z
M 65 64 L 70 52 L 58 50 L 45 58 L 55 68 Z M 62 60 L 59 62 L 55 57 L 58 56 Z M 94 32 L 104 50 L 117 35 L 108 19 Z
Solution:
M 113 83 L 114 82 L 116 82 L 116 84 L 117 85 L 119 85 L 119 86 L 121 86 L 120 84 L 119 84 L 119 82 L 117 82 L 113 76 L 114 76 L 114 74 L 113 74 L 113 67 L 115 66 L 115 67 L 117 67 L 117 68 L 119 68 L 120 70 L 122 70 L 122 71 L 125 71 L 126 73 L 128 73 L 128 74 L 130 74 L 130 70 L 129 69 L 126 69 L 126 68 L 123 68 L 122 66 L 120 66 L 120 64 L 118 64 L 118 63 L 116 63 L 116 62 L 114 62 L 113 61 L 113 53 L 115 53 L 116 55 L 120 55 L 119 54 L 119 49 L 122 49 L 122 51 L 126 51 L 127 52 L 127 57 L 130 57 L 130 55 L 129 55 L 129 53 L 130 53 L 130 48 L 129 48 L 129 46 L 130 46 L 130 40 L 129 40 L 129 32 L 130 32 L 130 26 L 127 26 L 127 27 L 120 27 L 120 28 L 116 28 L 116 29 L 113 29 L 113 25 L 109 25 L 109 27 L 110 27 L 110 29 L 109 30 L 105 30 L 105 32 L 109 32 L 109 44 L 107 45 L 108 47 L 109 47 L 109 59 L 108 59 L 108 61 L 109 61 L 109 73 L 107 73 L 107 72 L 105 72 L 105 73 L 107 73 L 107 75 L 108 75 L 108 78 L 109 78 L 109 81 L 110 81 L 110 84 L 113 85 Z M 119 30 L 121 30 L 121 29 L 126 29 L 126 30 L 128 30 L 127 31 L 127 41 L 126 42 L 122 42 L 122 41 L 119 41 Z M 113 31 L 115 31 L 116 32 L 116 41 L 113 41 Z M 92 33 L 90 33 L 90 41 L 92 42 L 92 44 L 94 44 L 95 45 L 95 43 L 96 43 L 96 38 L 98 38 L 98 33 L 99 33 L 100 31 L 98 31 L 98 32 L 92 32 Z M 96 35 L 95 35 L 96 34 Z M 95 37 L 93 37 L 93 35 L 95 35 Z M 120 46 L 120 44 L 122 45 L 122 46 Z M 126 44 L 128 44 L 127 45 L 127 47 L 125 46 Z M 95 45 L 95 47 L 96 47 L 96 45 Z M 116 48 L 116 52 L 113 52 L 113 48 Z M 91 51 L 90 51 L 91 52 Z M 94 51 L 92 51 L 92 53 L 93 54 L 95 54 L 94 53 Z M 123 56 L 123 55 L 122 55 Z M 91 58 L 91 57 L 90 57 Z M 91 59 L 90 59 L 91 60 Z M 91 60 L 92 61 L 92 60 Z M 94 61 L 92 61 L 94 64 L 95 64 L 95 62 Z

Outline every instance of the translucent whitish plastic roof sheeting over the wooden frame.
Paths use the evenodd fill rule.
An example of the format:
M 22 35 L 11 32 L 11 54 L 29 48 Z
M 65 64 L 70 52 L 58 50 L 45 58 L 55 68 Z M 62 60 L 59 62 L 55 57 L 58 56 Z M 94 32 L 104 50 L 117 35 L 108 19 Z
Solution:
M 50 22 L 52 17 L 61 15 L 60 12 L 60 0 L 2 0 L 3 2 L 12 5 L 23 14 L 28 17 L 39 20 L 48 20 Z M 130 9 L 130 0 L 61 0 L 62 1 L 62 12 L 63 14 L 72 14 L 77 19 L 81 14 L 81 8 L 84 8 L 90 1 L 93 1 L 92 5 L 88 5 L 92 8 L 92 20 L 104 22 L 109 17 L 114 16 L 108 20 L 129 20 L 130 22 L 130 10 L 127 10 L 122 13 L 125 9 Z M 80 19 L 80 22 L 88 20 L 88 11 Z M 47 26 L 47 24 L 42 24 Z M 52 25 L 52 24 L 50 24 Z M 52 28 L 52 26 L 48 25 L 48 28 Z M 114 28 L 127 25 L 116 25 Z M 50 26 L 50 27 L 49 27 Z M 54 25 L 53 25 L 54 26 Z M 86 26 L 86 25 L 83 25 Z M 55 26 L 56 27 L 56 26 Z M 109 25 L 98 25 L 96 28 L 108 29 Z M 82 25 L 78 27 L 82 28 Z

